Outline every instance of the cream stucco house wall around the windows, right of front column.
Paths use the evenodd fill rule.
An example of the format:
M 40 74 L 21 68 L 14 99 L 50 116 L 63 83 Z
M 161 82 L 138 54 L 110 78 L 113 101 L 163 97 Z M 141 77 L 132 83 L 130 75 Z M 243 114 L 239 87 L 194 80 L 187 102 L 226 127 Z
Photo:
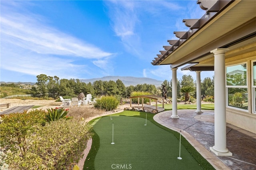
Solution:
M 256 133 L 255 90 L 253 89 L 252 63 L 256 62 L 256 43 L 251 43 L 226 53 L 226 67 L 246 63 L 248 109 L 230 107 L 228 105 L 228 86 L 226 85 L 226 122 L 236 127 Z M 227 74 L 227 73 L 226 73 Z M 255 78 L 255 75 L 254 75 Z M 255 85 L 254 85 L 255 88 Z

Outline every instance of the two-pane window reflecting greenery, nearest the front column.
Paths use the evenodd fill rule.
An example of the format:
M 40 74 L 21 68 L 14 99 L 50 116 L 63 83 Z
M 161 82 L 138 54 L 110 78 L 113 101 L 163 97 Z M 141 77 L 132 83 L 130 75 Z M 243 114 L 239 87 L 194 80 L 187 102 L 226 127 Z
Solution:
M 228 107 L 248 111 L 248 87 L 246 63 L 226 67 Z

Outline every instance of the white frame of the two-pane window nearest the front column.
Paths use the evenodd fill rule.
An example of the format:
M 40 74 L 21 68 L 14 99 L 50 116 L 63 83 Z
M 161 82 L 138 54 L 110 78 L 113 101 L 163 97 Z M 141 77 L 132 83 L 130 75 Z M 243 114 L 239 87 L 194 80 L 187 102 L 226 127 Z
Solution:
M 235 65 L 242 65 L 242 64 L 246 64 L 246 85 L 227 85 L 227 67 L 232 67 Z M 247 100 L 249 99 L 249 94 L 248 94 L 248 61 L 244 61 L 241 63 L 235 63 L 235 64 L 231 64 L 231 65 L 226 65 L 225 66 L 225 84 L 226 84 L 226 107 L 230 108 L 230 109 L 236 109 L 236 110 L 240 110 L 240 111 L 245 111 L 245 112 L 249 112 L 249 108 L 246 109 L 241 109 L 238 107 L 232 107 L 228 105 L 228 88 L 243 88 L 243 89 L 247 89 Z M 249 101 L 248 101 L 249 103 Z

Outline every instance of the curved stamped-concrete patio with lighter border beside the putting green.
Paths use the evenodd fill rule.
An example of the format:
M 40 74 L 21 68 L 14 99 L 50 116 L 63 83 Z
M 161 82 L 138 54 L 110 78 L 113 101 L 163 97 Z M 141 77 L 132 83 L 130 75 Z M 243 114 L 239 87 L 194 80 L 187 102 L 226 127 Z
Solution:
M 178 110 L 179 119 L 172 119 L 172 111 L 164 111 L 154 116 L 154 120 L 184 138 L 216 170 L 256 170 L 256 134 L 227 124 L 227 148 L 232 156 L 216 156 L 210 151 L 214 146 L 214 111 Z

